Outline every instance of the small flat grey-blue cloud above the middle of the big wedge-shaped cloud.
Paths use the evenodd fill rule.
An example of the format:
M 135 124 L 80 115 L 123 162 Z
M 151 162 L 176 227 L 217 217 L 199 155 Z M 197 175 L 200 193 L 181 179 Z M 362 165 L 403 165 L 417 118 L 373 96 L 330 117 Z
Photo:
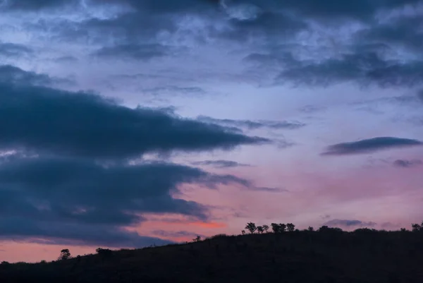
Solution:
M 106 58 L 149 60 L 171 54 L 171 51 L 171 47 L 161 44 L 123 44 L 103 47 L 94 52 L 94 55 Z

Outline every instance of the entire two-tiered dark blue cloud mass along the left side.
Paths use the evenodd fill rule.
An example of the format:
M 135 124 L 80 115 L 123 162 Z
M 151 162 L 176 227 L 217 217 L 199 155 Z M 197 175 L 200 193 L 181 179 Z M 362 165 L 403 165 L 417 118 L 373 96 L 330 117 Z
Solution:
M 236 184 L 231 175 L 166 162 L 128 163 L 147 152 L 267 143 L 235 128 L 130 109 L 86 92 L 48 88 L 53 78 L 0 68 L 0 238 L 108 246 L 166 243 L 125 227 L 147 214 L 207 221 L 207 207 L 173 198 L 179 186 Z

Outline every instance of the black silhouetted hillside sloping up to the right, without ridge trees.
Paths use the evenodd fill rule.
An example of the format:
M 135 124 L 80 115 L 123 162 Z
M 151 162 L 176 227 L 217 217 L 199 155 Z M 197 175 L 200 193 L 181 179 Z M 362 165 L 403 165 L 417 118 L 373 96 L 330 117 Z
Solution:
M 18 282 L 423 282 L 423 233 L 360 229 L 215 236 L 52 263 L 2 263 Z

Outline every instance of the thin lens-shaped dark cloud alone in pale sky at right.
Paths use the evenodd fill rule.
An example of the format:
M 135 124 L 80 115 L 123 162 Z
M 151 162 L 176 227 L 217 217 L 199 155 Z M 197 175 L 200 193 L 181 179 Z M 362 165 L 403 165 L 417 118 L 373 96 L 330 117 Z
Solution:
M 327 151 L 322 155 L 355 155 L 361 153 L 375 152 L 398 147 L 412 147 L 423 145 L 419 140 L 408 138 L 379 137 L 358 140 L 351 143 L 338 143 L 327 147 Z

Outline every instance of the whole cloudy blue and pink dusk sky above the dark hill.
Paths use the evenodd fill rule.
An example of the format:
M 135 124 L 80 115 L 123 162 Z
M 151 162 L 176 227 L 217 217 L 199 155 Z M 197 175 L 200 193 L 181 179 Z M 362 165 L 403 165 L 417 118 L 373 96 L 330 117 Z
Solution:
M 0 0 L 0 261 L 423 220 L 423 1 Z

